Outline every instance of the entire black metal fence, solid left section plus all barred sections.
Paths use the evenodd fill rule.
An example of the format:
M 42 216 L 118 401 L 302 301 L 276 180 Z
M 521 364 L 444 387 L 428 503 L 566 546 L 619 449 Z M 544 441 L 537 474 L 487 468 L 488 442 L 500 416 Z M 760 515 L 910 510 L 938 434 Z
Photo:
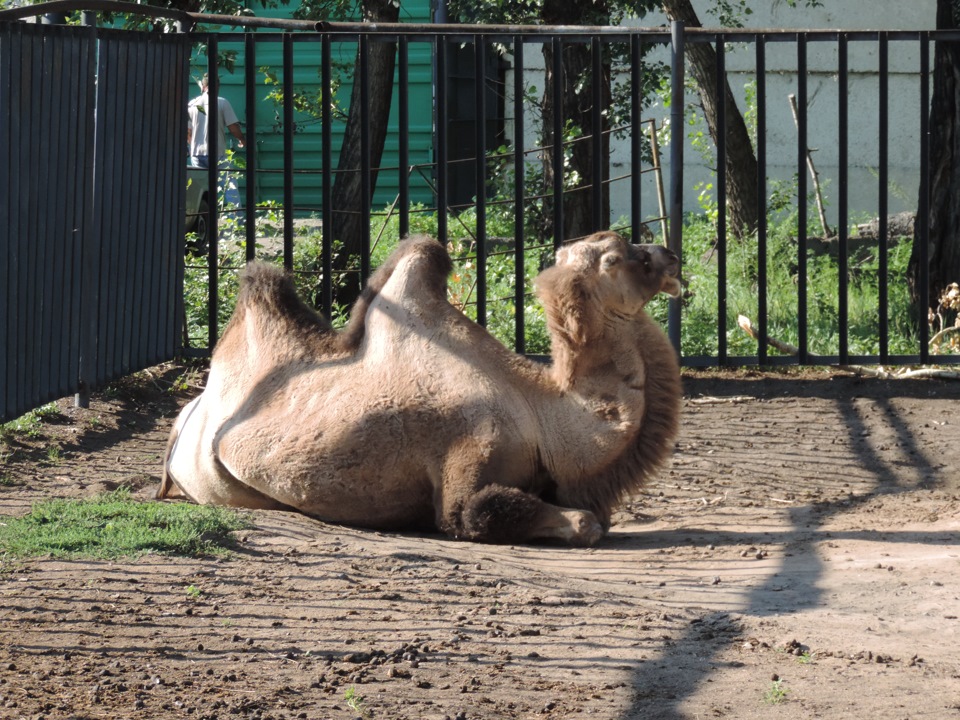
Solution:
M 226 252 L 234 237 L 220 227 L 215 204 L 209 209 L 212 242 L 203 266 L 193 268 L 205 272 L 209 282 L 206 337 L 189 342 L 195 352 L 198 340 L 199 352 L 209 352 L 222 329 L 229 304 L 221 292 L 224 278 L 263 253 L 262 225 L 255 221 L 257 213 L 265 212 L 257 193 L 263 173 L 280 173 L 283 179 L 280 207 L 271 209 L 282 217 L 278 261 L 294 268 L 299 220 L 313 216 L 322 230 L 318 262 L 309 270 L 321 309 L 332 308 L 340 279 L 370 273 L 378 240 L 371 227 L 378 227 L 385 213 L 396 216 L 400 236 L 418 227 L 420 217 L 433 215 L 442 238 L 461 232 L 462 219 L 469 216 L 467 257 L 461 259 L 469 262 L 472 280 L 469 297 L 461 300 L 481 323 L 493 316 L 494 304 L 507 307 L 514 326 L 506 341 L 521 352 L 536 352 L 529 345 L 531 320 L 524 311 L 531 302 L 529 254 L 607 227 L 643 236 L 645 224 L 661 214 L 651 201 L 655 174 L 646 172 L 655 147 L 644 129 L 653 120 L 658 128 L 670 128 L 666 241 L 685 255 L 689 283 L 687 297 L 656 312 L 684 364 L 958 362 L 955 353 L 935 354 L 939 346 L 930 344 L 935 326 L 911 325 L 901 317 L 907 285 L 902 244 L 897 249 L 887 239 L 891 194 L 905 193 L 906 200 L 897 202 L 916 211 L 917 294 L 927 297 L 931 56 L 936 42 L 955 41 L 956 33 L 716 32 L 677 24 L 653 29 L 312 25 L 222 17 L 216 21 L 273 32 L 209 33 L 187 27 L 203 16 L 180 15 L 188 30 L 181 34 L 0 25 L 0 176 L 5 188 L 0 226 L 6 231 L 7 258 L 0 290 L 5 343 L 0 417 L 102 385 L 183 350 L 183 137 L 187 55 L 196 43 L 207 45 L 209 57 L 224 49 L 237 53 L 247 104 L 245 132 L 254 139 L 263 132 L 253 111 L 263 102 L 258 97 L 258 48 L 268 43 L 282 48 L 278 76 L 283 100 L 277 117 L 284 161 L 279 170 L 267 169 L 258 165 L 256 152 L 247 154 L 240 172 L 248 222 L 240 231 L 242 252 L 236 258 Z M 370 57 L 372 48 L 383 43 L 396 46 L 394 141 L 399 161 L 392 167 L 377 166 L 371 140 Z M 744 239 L 729 233 L 727 174 L 701 171 L 705 179 L 698 183 L 711 193 L 703 203 L 706 209 L 691 202 L 698 191 L 689 167 L 684 177 L 685 157 L 691 153 L 683 141 L 691 100 L 685 58 L 691 47 L 703 45 L 715 52 L 720 98 L 720 140 L 708 148 L 708 164 L 714 168 L 724 167 L 728 151 L 725 123 L 731 108 L 725 105 L 724 79 L 731 79 L 735 94 L 742 94 L 744 86 L 752 93 L 739 102 L 747 106 L 754 128 L 758 226 Z M 406 99 L 409 58 L 417 48 L 427 48 L 432 57 L 429 107 L 411 107 Z M 570 61 L 574 51 L 580 65 Z M 341 137 L 344 125 L 333 112 L 331 89 L 340 71 L 332 58 L 353 57 L 354 52 L 356 97 L 363 109 L 352 120 L 359 123 L 359 160 L 344 169 L 336 163 L 334 139 Z M 491 64 L 491 54 L 501 61 Z M 321 146 L 313 154 L 303 152 L 303 138 L 295 132 L 294 69 L 305 58 L 320 67 Z M 446 122 L 451 67 L 456 66 L 456 82 L 462 83 L 471 65 L 479 120 L 472 138 L 460 132 L 456 139 L 469 143 L 468 152 L 460 148 L 451 159 Z M 571 77 L 571 68 L 577 77 Z M 650 78 L 658 68 L 669 78 L 666 96 L 650 93 Z M 894 75 L 900 89 L 891 98 Z M 817 87 L 811 89 L 814 82 Z M 529 97 L 532 87 L 538 88 L 535 100 Z M 552 103 L 544 103 L 544 88 L 551 91 Z M 784 88 L 795 99 L 795 124 L 783 122 L 776 109 L 782 107 Z M 464 95 L 463 87 L 457 89 L 458 96 Z M 492 131 L 491 90 L 500 112 Z M 582 105 L 576 115 L 571 97 Z M 63 113 L 65 98 L 69 121 Z M 348 104 L 341 99 L 345 112 Z M 544 107 L 549 112 L 541 114 Z M 429 122 L 434 137 L 433 160 L 425 172 L 433 201 L 426 208 L 414 208 L 411 202 L 407 139 L 413 121 Z M 860 143 L 864 135 L 875 140 L 868 151 Z M 507 148 L 505 155 L 495 152 L 495 142 Z M 821 167 L 821 176 L 828 177 L 808 175 L 812 144 L 829 147 L 829 153 L 836 150 L 835 160 Z M 555 147 L 563 151 L 553 152 Z M 906 164 L 898 159 L 904 147 L 912 157 Z M 785 164 L 784 152 L 790 158 Z M 774 161 L 775 156 L 780 159 Z M 474 160 L 465 164 L 464 157 Z M 494 167 L 509 171 L 509 182 L 496 191 L 489 177 Z M 334 188 L 345 173 L 357 173 L 361 182 L 355 204 L 338 208 Z M 380 208 L 373 202 L 374 179 L 382 181 L 390 173 L 397 176 L 397 196 L 388 208 Z M 318 198 L 301 191 L 310 174 L 320 178 Z M 213 170 L 211 176 L 213 180 Z M 897 178 L 915 187 L 897 192 Z M 834 232 L 822 228 L 819 233 L 830 236 L 819 238 L 828 248 L 829 262 L 809 239 L 818 234 L 813 231 L 813 195 L 820 190 L 815 180 L 830 181 L 825 214 L 832 216 Z M 451 188 L 464 182 L 475 190 L 466 202 L 451 196 Z M 872 200 L 864 200 L 871 195 Z M 578 197 L 587 202 L 576 203 Z M 334 238 L 336 213 L 359 213 L 361 237 Z M 506 218 L 510 236 L 489 230 L 493 214 L 500 221 Z M 707 225 L 712 228 L 708 252 L 692 244 L 690 231 L 696 226 L 702 235 L 704 224 L 697 217 L 703 215 L 712 223 Z M 868 216 L 877 218 L 872 240 L 852 230 Z M 334 240 L 357 241 L 355 266 L 337 265 Z M 892 252 L 899 253 L 896 262 Z M 504 258 L 511 292 L 491 297 L 492 263 Z M 504 275 L 502 266 L 496 265 L 496 273 Z M 826 298 L 823 288 L 831 284 L 835 294 Z M 863 299 L 864 288 L 872 290 L 872 299 Z M 856 308 L 851 307 L 854 290 Z M 865 313 L 864 302 L 869 303 Z M 755 338 L 740 329 L 740 315 L 755 320 L 752 327 L 749 321 L 746 325 Z

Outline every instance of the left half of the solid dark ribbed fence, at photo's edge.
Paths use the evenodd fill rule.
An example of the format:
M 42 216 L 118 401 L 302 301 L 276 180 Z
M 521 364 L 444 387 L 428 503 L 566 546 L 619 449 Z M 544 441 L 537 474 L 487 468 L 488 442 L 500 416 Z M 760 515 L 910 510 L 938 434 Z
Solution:
M 0 24 L 0 419 L 77 388 L 92 32 Z

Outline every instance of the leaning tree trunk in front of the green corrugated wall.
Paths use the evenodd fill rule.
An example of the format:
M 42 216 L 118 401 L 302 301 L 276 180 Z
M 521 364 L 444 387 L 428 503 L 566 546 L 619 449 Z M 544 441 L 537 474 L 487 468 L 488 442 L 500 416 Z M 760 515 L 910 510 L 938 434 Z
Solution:
M 365 22 L 397 22 L 400 17 L 399 3 L 392 0 L 365 0 L 362 4 Z M 383 156 L 383 146 L 387 137 L 387 122 L 390 115 L 390 102 L 393 97 L 393 73 L 396 67 L 397 45 L 395 42 L 374 42 L 368 45 L 367 69 L 369 95 L 366 105 L 360 99 L 360 55 L 354 65 L 353 91 L 350 95 L 350 109 L 347 125 L 340 149 L 340 160 L 334 175 L 332 188 L 332 237 L 342 243 L 342 249 L 334 258 L 334 272 L 344 273 L 348 268 L 357 267 L 364 242 L 365 211 L 360 205 L 362 180 L 360 132 L 361 113 L 369 113 L 370 142 L 370 188 L 371 193 L 377 186 L 377 173 Z M 338 303 L 349 306 L 360 296 L 363 278 L 359 271 L 343 274 L 335 283 L 334 293 Z

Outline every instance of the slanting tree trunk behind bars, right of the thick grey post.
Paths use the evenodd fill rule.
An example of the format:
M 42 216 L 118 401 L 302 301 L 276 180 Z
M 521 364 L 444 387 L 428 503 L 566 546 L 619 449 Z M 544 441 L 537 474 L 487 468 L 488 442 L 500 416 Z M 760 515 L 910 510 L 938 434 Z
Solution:
M 663 11 L 671 20 L 687 27 L 701 27 L 690 0 L 661 0 Z M 703 115 L 714 144 L 719 144 L 720 99 L 717 95 L 717 53 L 708 43 L 689 43 L 686 55 L 693 79 L 697 83 Z M 750 143 L 747 124 L 737 107 L 726 78 L 723 81 L 727 121 L 727 161 L 724 174 L 727 180 L 727 211 L 730 231 L 736 237 L 745 237 L 757 228 L 757 156 Z M 674 132 L 679 132 L 674 128 Z

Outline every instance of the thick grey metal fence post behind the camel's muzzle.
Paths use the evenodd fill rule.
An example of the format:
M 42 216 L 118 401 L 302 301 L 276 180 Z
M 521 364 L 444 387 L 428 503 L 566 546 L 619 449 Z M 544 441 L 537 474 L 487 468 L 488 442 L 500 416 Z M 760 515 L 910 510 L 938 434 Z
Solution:
M 683 127 L 684 56 L 686 37 L 682 22 L 670 23 L 670 127 Z M 670 143 L 670 249 L 683 259 L 683 143 Z M 670 301 L 667 334 L 677 355 L 680 351 L 680 300 Z

